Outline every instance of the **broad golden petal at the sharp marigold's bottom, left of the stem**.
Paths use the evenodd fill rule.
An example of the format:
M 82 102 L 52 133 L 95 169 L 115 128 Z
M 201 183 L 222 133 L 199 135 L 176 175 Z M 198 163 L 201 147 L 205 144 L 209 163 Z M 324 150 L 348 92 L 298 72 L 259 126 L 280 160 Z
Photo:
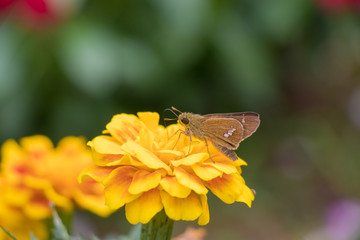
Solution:
M 143 193 L 140 197 L 125 206 L 126 219 L 131 224 L 148 223 L 163 209 L 158 189 Z

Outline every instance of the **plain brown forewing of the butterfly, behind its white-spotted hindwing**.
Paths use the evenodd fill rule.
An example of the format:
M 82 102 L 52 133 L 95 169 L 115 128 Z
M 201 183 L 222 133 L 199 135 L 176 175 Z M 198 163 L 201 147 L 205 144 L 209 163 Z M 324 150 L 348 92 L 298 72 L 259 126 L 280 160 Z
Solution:
M 260 115 L 256 112 L 238 112 L 238 113 L 213 113 L 203 115 L 205 118 L 233 118 L 243 126 L 242 140 L 250 137 L 260 125 Z

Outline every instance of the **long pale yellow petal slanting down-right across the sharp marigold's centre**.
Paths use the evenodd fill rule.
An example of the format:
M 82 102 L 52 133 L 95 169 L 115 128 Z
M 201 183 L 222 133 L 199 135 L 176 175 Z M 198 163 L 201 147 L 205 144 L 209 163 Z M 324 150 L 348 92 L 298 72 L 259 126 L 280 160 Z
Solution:
M 122 145 L 122 149 L 129 153 L 131 156 L 137 158 L 145 166 L 152 169 L 163 168 L 168 173 L 171 173 L 171 169 L 164 162 L 162 162 L 154 153 L 148 149 L 140 146 L 139 144 L 129 141 Z

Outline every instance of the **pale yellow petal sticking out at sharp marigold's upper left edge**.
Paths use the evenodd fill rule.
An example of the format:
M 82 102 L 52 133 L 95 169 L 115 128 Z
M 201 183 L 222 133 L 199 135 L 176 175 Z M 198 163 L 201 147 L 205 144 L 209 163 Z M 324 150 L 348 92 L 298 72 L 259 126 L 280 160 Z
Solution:
M 121 149 L 121 143 L 110 136 L 95 137 L 92 141 L 88 142 L 88 145 L 95 152 L 101 154 L 125 154 L 125 152 Z

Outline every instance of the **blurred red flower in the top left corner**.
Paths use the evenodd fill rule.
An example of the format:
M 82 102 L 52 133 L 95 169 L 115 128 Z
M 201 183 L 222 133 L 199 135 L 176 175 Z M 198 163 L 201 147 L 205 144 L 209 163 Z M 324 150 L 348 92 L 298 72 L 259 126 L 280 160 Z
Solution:
M 65 19 L 74 8 L 71 0 L 0 0 L 0 17 L 12 16 L 22 25 L 42 29 Z

